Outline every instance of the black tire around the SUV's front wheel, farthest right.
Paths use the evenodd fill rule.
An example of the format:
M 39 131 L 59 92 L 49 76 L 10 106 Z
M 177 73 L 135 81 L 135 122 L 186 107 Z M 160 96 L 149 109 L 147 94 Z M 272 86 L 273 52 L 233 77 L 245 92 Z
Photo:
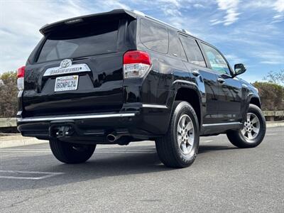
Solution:
M 229 138 L 229 141 L 236 147 L 239 148 L 253 148 L 261 144 L 264 136 L 266 135 L 266 119 L 263 116 L 263 113 L 259 107 L 254 104 L 249 104 L 248 114 L 255 114 L 259 121 L 259 131 L 256 138 L 249 139 L 241 133 L 240 130 L 228 131 L 226 136 Z

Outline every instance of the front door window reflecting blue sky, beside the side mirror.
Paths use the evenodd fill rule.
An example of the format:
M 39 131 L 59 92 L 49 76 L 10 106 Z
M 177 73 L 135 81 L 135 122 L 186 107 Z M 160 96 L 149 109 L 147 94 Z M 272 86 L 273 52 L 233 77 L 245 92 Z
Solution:
M 216 49 L 210 47 L 209 45 L 202 43 L 202 47 L 204 48 L 204 52 L 207 55 L 212 70 L 215 70 L 221 74 L 230 75 L 229 67 L 223 56 Z

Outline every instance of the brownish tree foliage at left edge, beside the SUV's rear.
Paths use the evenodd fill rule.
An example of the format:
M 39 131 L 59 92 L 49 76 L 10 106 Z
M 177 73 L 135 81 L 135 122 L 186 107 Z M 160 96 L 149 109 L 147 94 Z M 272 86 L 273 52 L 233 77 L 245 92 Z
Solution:
M 0 75 L 0 117 L 14 117 L 17 112 L 17 73 Z

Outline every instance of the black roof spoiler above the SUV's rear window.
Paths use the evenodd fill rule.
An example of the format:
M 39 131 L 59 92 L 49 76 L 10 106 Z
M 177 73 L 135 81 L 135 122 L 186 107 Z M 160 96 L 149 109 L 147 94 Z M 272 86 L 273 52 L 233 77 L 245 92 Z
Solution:
M 84 23 L 84 22 L 89 22 L 89 21 L 96 21 L 98 18 L 111 18 L 112 17 L 117 17 L 117 16 L 129 16 L 132 18 L 137 18 L 138 14 L 135 11 L 128 11 L 125 9 L 115 9 L 109 12 L 105 13 L 96 13 L 96 14 L 91 14 L 87 16 L 78 16 L 75 18 L 68 18 L 63 21 L 57 21 L 55 23 L 50 23 L 50 24 L 45 24 L 42 28 L 40 28 L 40 33 L 43 35 L 48 34 L 50 31 L 54 31 L 56 28 L 67 28 L 68 26 L 76 23 Z

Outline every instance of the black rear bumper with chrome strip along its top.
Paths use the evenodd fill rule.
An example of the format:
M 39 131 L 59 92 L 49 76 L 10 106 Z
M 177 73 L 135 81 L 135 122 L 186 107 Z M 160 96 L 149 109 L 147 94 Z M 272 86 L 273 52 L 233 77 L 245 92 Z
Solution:
M 70 114 L 64 116 L 34 116 L 21 118 L 18 131 L 23 136 L 48 139 L 53 126 L 70 125 L 75 129 L 75 140 L 102 140 L 108 133 L 125 133 L 136 139 L 147 139 L 165 134 L 168 130 L 170 109 L 163 105 L 141 104 L 120 112 L 100 114 Z M 77 138 L 77 139 L 76 139 Z

